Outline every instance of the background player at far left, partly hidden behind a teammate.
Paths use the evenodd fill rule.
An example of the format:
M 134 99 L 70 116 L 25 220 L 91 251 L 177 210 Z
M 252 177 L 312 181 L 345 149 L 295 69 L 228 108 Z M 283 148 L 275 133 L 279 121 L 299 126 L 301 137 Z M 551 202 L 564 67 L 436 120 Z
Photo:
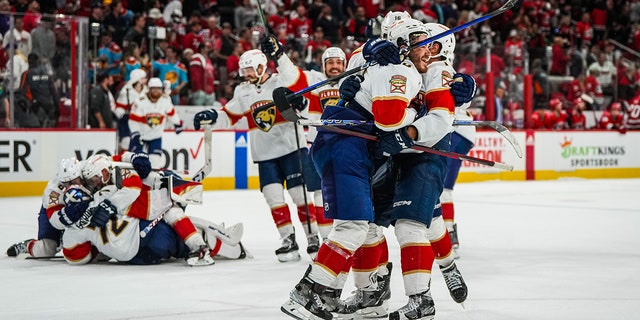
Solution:
M 131 143 L 129 129 L 129 114 L 131 106 L 140 96 L 147 93 L 147 73 L 142 69 L 135 69 L 129 74 L 129 81 L 118 92 L 116 109 L 113 112 L 118 118 L 118 143 L 120 150 L 128 150 Z

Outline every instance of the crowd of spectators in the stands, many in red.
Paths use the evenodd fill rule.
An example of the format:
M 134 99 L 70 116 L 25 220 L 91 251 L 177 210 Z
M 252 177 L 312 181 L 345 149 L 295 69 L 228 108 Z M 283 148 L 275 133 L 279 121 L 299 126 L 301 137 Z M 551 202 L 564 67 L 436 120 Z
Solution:
M 275 33 L 294 63 L 320 69 L 323 50 L 339 46 L 349 56 L 367 40 L 368 22 L 377 15 L 407 11 L 416 19 L 451 28 L 499 8 L 502 1 L 264 0 L 261 4 L 268 27 L 260 23 L 254 0 L 1 0 L 2 91 L 7 92 L 9 83 L 24 91 L 23 75 L 40 68 L 51 77 L 53 97 L 70 98 L 65 87 L 70 77 L 70 25 L 62 16 L 47 14 L 89 18 L 88 83 L 99 85 L 97 75 L 109 75 L 108 87 L 115 95 L 132 70 L 144 68 L 150 76 L 170 83 L 174 104 L 211 105 L 232 97 L 241 81 L 239 56 L 255 48 L 265 32 Z M 11 15 L 15 22 L 9 30 Z M 16 40 L 13 48 L 8 45 L 9 32 Z M 455 67 L 473 74 L 479 85 L 471 109 L 478 118 L 483 116 L 488 61 L 496 120 L 515 128 L 524 125 L 513 119 L 514 111 L 523 108 L 526 74 L 533 77 L 534 114 L 542 118 L 557 108 L 556 100 L 569 114 L 581 108 L 609 111 L 615 103 L 623 113 L 629 112 L 629 101 L 638 95 L 640 0 L 523 0 L 511 11 L 457 32 L 456 38 Z M 11 52 L 14 59 L 9 59 Z M 45 120 L 40 119 L 41 126 L 55 125 L 56 121 Z

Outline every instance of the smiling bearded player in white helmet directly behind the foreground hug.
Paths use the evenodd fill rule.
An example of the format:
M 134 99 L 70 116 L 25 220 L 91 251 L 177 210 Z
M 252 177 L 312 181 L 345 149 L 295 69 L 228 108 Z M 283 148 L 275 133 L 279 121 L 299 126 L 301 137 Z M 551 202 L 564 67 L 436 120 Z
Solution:
M 327 48 L 322 53 L 322 72 L 315 70 L 305 71 L 308 84 L 318 83 L 328 78 L 335 77 L 344 72 L 347 64 L 347 57 L 338 47 Z M 338 83 L 331 83 L 311 91 L 309 98 L 309 107 L 307 117 L 311 120 L 320 119 L 322 110 L 327 106 L 336 106 L 340 100 Z M 307 141 L 313 144 L 316 138 L 316 127 L 309 127 L 307 131 Z M 320 175 L 313 166 L 311 157 L 307 157 L 307 165 L 305 166 L 304 179 L 307 185 L 307 191 L 313 192 L 314 212 L 318 223 L 318 230 L 323 239 L 326 239 L 333 225 L 332 219 L 324 217 L 324 207 L 322 206 L 322 190 L 320 186 Z

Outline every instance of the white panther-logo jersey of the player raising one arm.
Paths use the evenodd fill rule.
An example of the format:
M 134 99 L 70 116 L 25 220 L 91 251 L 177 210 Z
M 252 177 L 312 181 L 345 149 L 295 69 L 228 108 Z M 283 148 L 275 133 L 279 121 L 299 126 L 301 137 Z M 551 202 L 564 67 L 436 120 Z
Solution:
M 278 60 L 278 73 L 271 75 L 263 84 L 257 86 L 245 82 L 236 87 L 233 99 L 223 110 L 232 124 L 243 117 L 247 118 L 251 157 L 254 162 L 279 158 L 306 147 L 304 130 L 301 127 L 297 129 L 300 141 L 298 146 L 295 135 L 297 124 L 282 118 L 276 106 L 260 112 L 254 110 L 272 102 L 274 89 L 287 87 L 295 92 L 304 88 L 307 83 L 302 70 L 283 54 Z

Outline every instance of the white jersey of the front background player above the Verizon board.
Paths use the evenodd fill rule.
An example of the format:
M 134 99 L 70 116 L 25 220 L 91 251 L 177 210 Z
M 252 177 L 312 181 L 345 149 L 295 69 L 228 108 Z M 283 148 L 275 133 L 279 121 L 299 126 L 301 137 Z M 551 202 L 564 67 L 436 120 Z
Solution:
M 129 128 L 132 133 L 139 132 L 142 140 L 150 141 L 162 137 L 167 119 L 173 125 L 182 123 L 171 98 L 162 95 L 156 102 L 152 102 L 143 94 L 131 106 Z

